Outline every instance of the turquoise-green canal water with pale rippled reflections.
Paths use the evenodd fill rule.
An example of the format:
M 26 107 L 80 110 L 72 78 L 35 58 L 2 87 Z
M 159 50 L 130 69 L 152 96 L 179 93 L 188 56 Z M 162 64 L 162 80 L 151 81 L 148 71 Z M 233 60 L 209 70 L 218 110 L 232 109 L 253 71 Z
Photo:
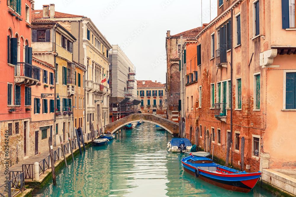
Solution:
M 57 172 L 56 186 L 51 180 L 32 196 L 273 196 L 257 186 L 247 194 L 228 191 L 184 172 L 184 154 L 167 152 L 172 138 L 151 123 L 125 130 L 108 145 L 78 154 Z

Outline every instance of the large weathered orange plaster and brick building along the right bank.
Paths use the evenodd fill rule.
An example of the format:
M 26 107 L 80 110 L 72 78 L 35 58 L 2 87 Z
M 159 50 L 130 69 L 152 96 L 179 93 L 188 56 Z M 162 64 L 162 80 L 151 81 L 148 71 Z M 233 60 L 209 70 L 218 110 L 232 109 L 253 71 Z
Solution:
M 294 142 L 286 138 L 295 119 L 295 3 L 289 2 L 218 1 L 218 17 L 191 49 L 195 69 L 183 45 L 186 137 L 193 127 L 192 141 L 205 151 L 211 143 L 224 161 L 229 145 L 229 163 L 247 172 L 295 168 L 296 155 L 287 151 Z M 197 73 L 193 80 L 188 69 Z

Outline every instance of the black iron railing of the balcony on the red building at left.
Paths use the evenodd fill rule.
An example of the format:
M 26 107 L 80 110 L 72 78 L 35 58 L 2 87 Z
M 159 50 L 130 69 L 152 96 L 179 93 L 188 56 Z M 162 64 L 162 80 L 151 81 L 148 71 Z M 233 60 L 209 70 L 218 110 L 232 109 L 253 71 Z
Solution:
M 40 68 L 25 62 L 17 62 L 15 76 L 26 76 L 40 81 Z

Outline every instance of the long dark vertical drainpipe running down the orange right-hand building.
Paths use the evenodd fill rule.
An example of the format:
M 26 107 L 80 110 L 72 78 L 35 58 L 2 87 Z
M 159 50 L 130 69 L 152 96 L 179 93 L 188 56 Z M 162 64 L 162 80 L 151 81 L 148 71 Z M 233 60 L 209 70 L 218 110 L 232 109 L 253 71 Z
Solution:
M 231 91 L 230 91 L 230 97 L 231 97 L 231 100 L 230 100 L 230 136 L 231 136 L 231 166 L 232 166 L 232 85 L 233 85 L 233 80 L 232 80 L 232 77 L 233 77 L 233 69 L 232 69 L 232 63 L 233 63 L 233 39 L 232 39 L 232 32 L 233 32 L 233 10 L 231 9 L 231 33 L 230 33 L 230 83 L 231 83 Z M 244 165 L 244 164 L 242 164 Z

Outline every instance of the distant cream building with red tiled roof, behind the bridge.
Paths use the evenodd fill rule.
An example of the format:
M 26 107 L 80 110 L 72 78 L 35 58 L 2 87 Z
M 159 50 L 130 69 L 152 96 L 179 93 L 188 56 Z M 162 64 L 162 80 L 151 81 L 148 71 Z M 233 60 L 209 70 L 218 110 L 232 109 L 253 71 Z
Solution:
M 138 80 L 137 84 L 137 94 L 141 100 L 141 113 L 151 113 L 167 118 L 165 85 L 151 80 Z

